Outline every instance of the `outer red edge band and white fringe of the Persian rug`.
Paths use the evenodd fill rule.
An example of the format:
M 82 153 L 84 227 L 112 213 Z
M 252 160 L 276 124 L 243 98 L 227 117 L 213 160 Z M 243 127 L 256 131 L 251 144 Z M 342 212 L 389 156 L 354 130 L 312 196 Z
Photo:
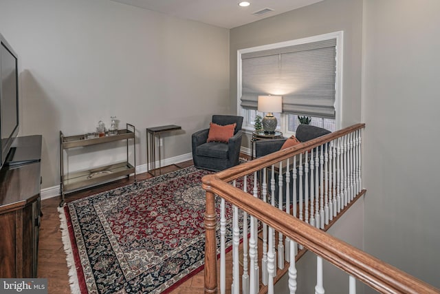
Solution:
M 197 169 L 195 169 L 194 171 L 190 171 L 191 169 L 195 169 L 195 167 L 193 167 L 193 166 L 185 167 L 184 169 L 180 169 L 179 172 L 182 172 L 183 170 L 185 170 L 188 172 L 188 174 L 190 174 L 191 172 L 198 171 Z M 177 171 L 171 171 L 170 173 L 164 174 L 164 175 L 162 175 L 162 178 L 160 178 L 160 179 L 157 179 L 157 177 L 155 177 L 155 178 L 149 178 L 146 180 L 141 180 L 139 182 L 144 182 L 144 181 L 150 180 L 151 185 L 155 185 L 155 183 L 162 182 L 162 181 L 166 180 L 167 178 L 168 179 L 173 178 L 173 176 L 175 175 L 176 172 Z M 135 183 L 131 183 L 129 185 L 133 185 L 133 184 L 135 184 Z M 122 187 L 126 187 L 129 185 L 124 185 Z M 118 187 L 115 189 L 120 189 L 122 187 Z M 111 189 L 109 191 L 113 191 L 115 189 Z M 109 191 L 95 193 L 95 194 L 93 194 L 91 196 L 87 196 L 85 198 L 95 197 L 101 193 L 108 193 Z M 81 198 L 81 199 L 85 199 L 85 198 Z M 76 200 L 74 200 L 74 201 L 76 201 Z M 74 202 L 74 201 L 72 201 L 72 202 Z M 65 253 L 66 253 L 67 266 L 69 268 L 68 274 L 69 274 L 70 289 L 71 289 L 72 293 L 88 293 L 87 285 L 84 280 L 85 276 L 83 273 L 83 268 L 82 268 L 82 265 L 81 265 L 80 260 L 78 258 L 78 247 L 76 245 L 76 239 L 74 236 L 74 228 L 72 227 L 72 220 L 70 220 L 69 206 L 66 204 L 64 207 L 58 207 L 58 212 L 59 212 L 59 217 L 60 217 L 60 221 L 61 221 L 60 227 L 61 227 L 64 249 L 65 249 Z M 69 224 L 69 226 L 67 226 L 67 224 Z M 227 251 L 230 251 L 230 250 L 232 250 L 232 246 L 227 247 Z M 79 264 L 79 266 L 76 266 L 76 264 Z M 201 264 L 201 266 L 197 267 L 196 269 L 193 269 L 192 271 L 187 273 L 184 277 L 181 277 L 181 279 L 179 279 L 177 282 L 175 282 L 175 284 L 172 284 L 168 288 L 164 289 L 164 291 L 162 291 L 162 293 L 170 293 L 171 291 L 175 290 L 175 288 L 177 288 L 178 286 L 180 286 L 181 284 L 183 284 L 184 282 L 189 280 L 191 277 L 193 277 L 194 275 L 196 275 L 197 273 L 202 271 L 203 268 L 204 268 L 204 263 Z

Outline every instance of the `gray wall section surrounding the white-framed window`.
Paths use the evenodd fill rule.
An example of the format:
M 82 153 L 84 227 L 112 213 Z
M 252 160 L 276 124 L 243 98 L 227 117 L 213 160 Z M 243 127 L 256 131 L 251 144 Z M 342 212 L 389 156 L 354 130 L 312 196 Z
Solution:
M 362 0 L 326 0 L 233 28 L 230 31 L 230 97 L 236 107 L 236 51 L 243 48 L 344 31 L 342 127 L 361 116 Z M 243 145 L 249 145 L 249 139 Z

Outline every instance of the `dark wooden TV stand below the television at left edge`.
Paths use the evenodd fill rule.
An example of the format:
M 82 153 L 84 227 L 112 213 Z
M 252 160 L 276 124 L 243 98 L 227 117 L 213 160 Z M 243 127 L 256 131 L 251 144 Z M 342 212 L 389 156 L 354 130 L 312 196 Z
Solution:
M 21 162 L 0 170 L 0 277 L 36 277 L 40 227 L 41 136 L 16 138 Z M 25 154 L 30 152 L 29 158 Z

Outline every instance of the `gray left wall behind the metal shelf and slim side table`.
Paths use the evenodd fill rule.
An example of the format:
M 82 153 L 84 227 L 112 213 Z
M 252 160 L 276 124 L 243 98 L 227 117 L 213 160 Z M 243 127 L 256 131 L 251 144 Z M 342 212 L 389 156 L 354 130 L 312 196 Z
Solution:
M 181 125 L 164 138 L 162 158 L 173 158 L 190 154 L 190 135 L 213 113 L 236 112 L 229 30 L 109 0 L 2 0 L 0 32 L 20 58 L 19 135 L 43 135 L 43 188 L 59 183 L 60 130 L 93 132 L 117 116 L 137 127 L 144 165 L 146 127 Z M 124 157 L 99 149 L 71 154 L 69 168 Z

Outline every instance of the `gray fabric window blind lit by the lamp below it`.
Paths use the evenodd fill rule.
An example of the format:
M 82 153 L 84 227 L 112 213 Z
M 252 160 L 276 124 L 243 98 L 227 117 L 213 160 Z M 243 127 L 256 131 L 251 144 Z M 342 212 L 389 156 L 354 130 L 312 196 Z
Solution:
M 283 112 L 335 118 L 336 39 L 241 54 L 241 107 L 283 96 Z

